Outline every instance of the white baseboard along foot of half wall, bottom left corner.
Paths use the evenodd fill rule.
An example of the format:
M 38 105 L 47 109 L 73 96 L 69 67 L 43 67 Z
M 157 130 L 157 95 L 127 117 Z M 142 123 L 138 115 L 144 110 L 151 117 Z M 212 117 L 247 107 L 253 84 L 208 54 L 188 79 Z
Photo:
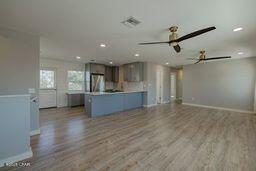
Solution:
M 15 163 L 15 162 L 18 162 L 18 161 L 30 158 L 32 156 L 33 156 L 33 152 L 32 152 L 32 149 L 30 147 L 30 149 L 27 152 L 25 152 L 25 153 L 22 153 L 22 154 L 13 156 L 13 157 L 8 157 L 7 159 L 4 159 L 4 160 L 0 160 L 0 167 L 5 166 L 6 163 L 12 164 L 12 163 Z

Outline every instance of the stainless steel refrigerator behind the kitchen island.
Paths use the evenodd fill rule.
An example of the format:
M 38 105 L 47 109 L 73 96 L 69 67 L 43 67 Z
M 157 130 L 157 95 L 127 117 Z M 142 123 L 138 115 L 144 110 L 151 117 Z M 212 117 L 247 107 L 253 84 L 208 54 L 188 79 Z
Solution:
M 103 74 L 91 74 L 91 92 L 104 92 L 105 79 Z

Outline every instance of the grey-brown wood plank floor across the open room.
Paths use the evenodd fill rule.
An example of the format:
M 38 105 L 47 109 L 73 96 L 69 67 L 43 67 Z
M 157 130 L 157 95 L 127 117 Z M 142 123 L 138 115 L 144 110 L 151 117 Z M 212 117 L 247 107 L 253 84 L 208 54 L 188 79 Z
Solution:
M 0 170 L 256 170 L 256 116 L 160 105 L 98 118 L 40 112 L 31 167 Z

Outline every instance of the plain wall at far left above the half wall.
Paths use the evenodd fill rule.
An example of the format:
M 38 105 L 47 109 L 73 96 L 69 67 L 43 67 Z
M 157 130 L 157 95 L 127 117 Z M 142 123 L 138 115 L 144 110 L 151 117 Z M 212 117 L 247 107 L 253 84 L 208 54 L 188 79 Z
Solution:
M 0 28 L 0 95 L 38 93 L 39 53 L 38 36 Z

